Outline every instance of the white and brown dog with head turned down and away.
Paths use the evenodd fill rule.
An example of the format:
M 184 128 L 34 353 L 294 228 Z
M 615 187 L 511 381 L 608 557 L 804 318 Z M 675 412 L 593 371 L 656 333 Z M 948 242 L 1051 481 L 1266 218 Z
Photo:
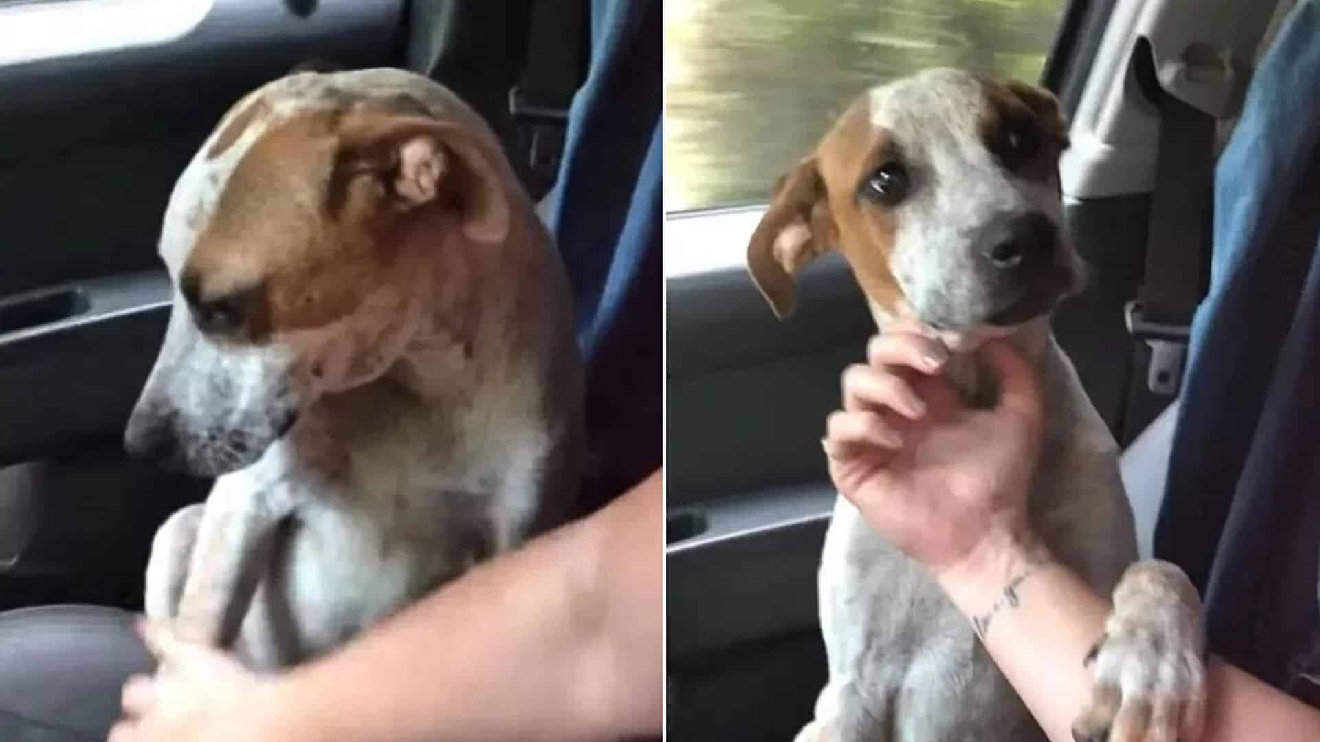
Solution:
M 264 84 L 183 170 L 160 255 L 173 306 L 125 445 L 216 481 L 157 531 L 148 618 L 286 667 L 569 514 L 568 276 L 445 87 Z

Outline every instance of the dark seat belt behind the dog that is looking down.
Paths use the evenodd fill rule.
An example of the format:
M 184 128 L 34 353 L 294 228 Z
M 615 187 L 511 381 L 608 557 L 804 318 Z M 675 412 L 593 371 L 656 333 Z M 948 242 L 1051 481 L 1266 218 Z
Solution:
M 533 0 L 527 29 L 527 62 L 508 91 L 516 129 L 515 166 L 532 198 L 540 201 L 560 172 L 569 106 L 586 78 L 587 0 Z

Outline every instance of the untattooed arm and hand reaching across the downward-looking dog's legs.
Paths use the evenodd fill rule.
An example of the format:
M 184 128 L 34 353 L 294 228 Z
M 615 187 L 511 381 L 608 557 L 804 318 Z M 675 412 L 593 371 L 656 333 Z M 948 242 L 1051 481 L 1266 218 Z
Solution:
M 661 473 L 284 675 L 152 630 L 194 663 L 125 687 L 111 742 L 614 739 L 659 734 Z M 209 688 L 209 676 L 224 688 Z M 197 698 L 201 698 L 198 701 Z M 207 698 L 214 698 L 209 702 Z

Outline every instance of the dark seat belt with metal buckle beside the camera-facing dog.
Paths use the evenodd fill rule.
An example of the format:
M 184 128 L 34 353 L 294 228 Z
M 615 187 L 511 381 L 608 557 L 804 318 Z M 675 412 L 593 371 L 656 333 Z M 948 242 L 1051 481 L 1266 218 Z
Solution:
M 1214 116 L 1167 91 L 1159 100 L 1160 131 L 1155 191 L 1146 240 L 1146 273 L 1127 304 L 1135 341 L 1134 368 L 1148 353 L 1144 392 L 1177 395 L 1192 317 L 1205 294 L 1213 239 Z M 1142 345 L 1150 347 L 1146 351 Z M 1134 393 L 1142 393 L 1134 389 Z M 1130 395 L 1129 412 L 1134 397 Z

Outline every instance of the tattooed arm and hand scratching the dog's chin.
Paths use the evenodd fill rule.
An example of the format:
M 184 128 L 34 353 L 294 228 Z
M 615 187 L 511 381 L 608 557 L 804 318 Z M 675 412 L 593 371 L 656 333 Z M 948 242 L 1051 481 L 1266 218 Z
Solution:
M 869 523 L 977 622 L 1051 739 L 1069 742 L 1094 688 L 1081 660 L 1105 634 L 1113 603 L 1056 561 L 1027 522 L 1043 421 L 1036 379 L 1007 345 L 989 343 L 982 360 L 999 375 L 1001 399 L 994 409 L 968 409 L 928 335 L 891 327 L 873 341 L 869 364 L 845 374 L 843 409 L 825 440 L 830 473 Z M 1205 742 L 1320 737 L 1320 713 L 1220 659 L 1208 663 L 1205 689 Z

